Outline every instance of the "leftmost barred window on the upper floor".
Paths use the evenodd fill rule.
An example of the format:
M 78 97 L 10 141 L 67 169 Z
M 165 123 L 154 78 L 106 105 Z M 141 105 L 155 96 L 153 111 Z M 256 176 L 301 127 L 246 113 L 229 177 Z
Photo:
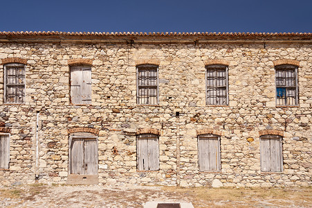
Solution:
M 4 65 L 4 102 L 25 102 L 25 66 L 24 64 Z

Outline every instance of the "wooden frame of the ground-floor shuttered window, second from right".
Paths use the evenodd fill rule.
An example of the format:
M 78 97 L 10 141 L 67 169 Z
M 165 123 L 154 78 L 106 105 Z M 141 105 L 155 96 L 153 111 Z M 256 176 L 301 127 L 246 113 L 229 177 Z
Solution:
M 216 157 L 216 164 L 217 164 L 217 169 L 203 169 L 201 168 L 201 156 L 200 156 L 200 148 L 199 148 L 199 140 L 200 139 L 217 139 L 218 146 L 217 146 L 217 157 Z M 197 149 L 198 149 L 198 161 L 199 161 L 199 171 L 201 172 L 219 172 L 221 171 L 221 136 L 219 135 L 213 135 L 213 134 L 205 134 L 205 135 L 198 135 L 197 136 Z

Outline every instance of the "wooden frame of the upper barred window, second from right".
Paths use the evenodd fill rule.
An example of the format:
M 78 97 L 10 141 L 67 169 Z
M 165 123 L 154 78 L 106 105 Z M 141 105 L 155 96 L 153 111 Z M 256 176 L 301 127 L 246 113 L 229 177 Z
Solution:
M 217 82 L 217 70 L 220 69 L 224 69 L 225 73 L 226 73 L 226 77 L 225 77 L 225 81 L 226 81 L 226 85 L 223 86 L 217 86 L 217 83 L 215 83 L 215 86 L 212 87 L 208 87 L 208 70 L 213 70 L 214 72 L 214 79 Z M 216 93 L 216 103 L 209 103 L 209 99 L 211 98 L 210 94 L 208 94 L 208 89 L 225 89 L 225 93 L 226 93 L 226 97 L 225 103 L 220 103 L 221 100 L 221 96 L 217 96 Z M 228 66 L 227 65 L 223 65 L 223 64 L 213 64 L 213 65 L 207 65 L 205 66 L 205 96 L 206 96 L 206 105 L 228 105 Z M 219 103 L 218 103 L 219 102 Z

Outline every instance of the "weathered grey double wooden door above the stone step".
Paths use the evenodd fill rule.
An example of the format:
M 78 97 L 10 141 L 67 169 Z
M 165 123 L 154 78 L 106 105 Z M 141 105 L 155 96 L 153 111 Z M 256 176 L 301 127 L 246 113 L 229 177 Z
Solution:
M 95 138 L 71 139 L 70 174 L 98 175 L 98 143 Z

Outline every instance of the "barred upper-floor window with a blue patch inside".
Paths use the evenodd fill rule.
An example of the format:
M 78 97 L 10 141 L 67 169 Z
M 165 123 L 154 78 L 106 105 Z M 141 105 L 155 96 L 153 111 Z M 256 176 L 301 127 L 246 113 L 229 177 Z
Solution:
M 276 105 L 297 105 L 297 67 L 280 65 L 275 67 Z

